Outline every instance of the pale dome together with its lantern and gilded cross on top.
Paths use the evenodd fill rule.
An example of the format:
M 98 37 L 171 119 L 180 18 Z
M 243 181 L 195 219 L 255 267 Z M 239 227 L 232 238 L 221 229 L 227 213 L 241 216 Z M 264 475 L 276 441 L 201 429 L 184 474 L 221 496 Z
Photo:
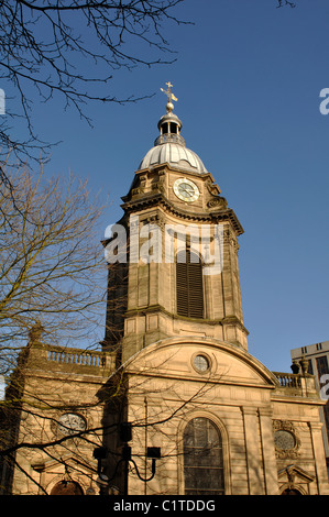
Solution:
M 185 145 L 185 140 L 180 135 L 182 121 L 173 113 L 174 105 L 172 101 L 178 99 L 171 90 L 173 85 L 167 82 L 167 90 L 162 89 L 167 95 L 168 101 L 166 114 L 157 123 L 160 135 L 154 142 L 154 147 L 142 160 L 139 169 L 153 168 L 167 163 L 179 170 L 207 174 L 207 169 L 199 156 Z

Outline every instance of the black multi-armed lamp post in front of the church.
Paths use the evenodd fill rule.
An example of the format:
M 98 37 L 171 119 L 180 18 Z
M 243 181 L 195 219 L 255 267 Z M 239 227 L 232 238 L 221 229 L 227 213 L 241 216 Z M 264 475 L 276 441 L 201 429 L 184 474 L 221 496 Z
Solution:
M 122 439 L 123 448 L 122 448 L 122 454 L 121 459 L 118 461 L 113 475 L 109 479 L 107 475 L 105 475 L 101 470 L 102 470 L 102 462 L 108 455 L 108 449 L 106 447 L 97 447 L 94 450 L 94 458 L 98 461 L 97 465 L 97 472 L 98 472 L 98 477 L 100 481 L 100 485 L 105 487 L 105 485 L 109 485 L 109 483 L 116 477 L 119 465 L 121 463 L 124 463 L 123 466 L 123 495 L 128 495 L 128 479 L 129 479 L 129 463 L 131 462 L 136 471 L 136 474 L 141 481 L 144 483 L 147 483 L 149 481 L 153 480 L 155 476 L 155 471 L 156 471 L 156 460 L 161 458 L 161 448 L 160 447 L 147 447 L 146 449 L 146 458 L 152 460 L 152 466 L 151 466 L 151 475 L 149 477 L 142 477 L 140 474 L 139 468 L 135 463 L 135 461 L 131 458 L 131 447 L 128 444 L 128 441 L 132 439 L 132 433 L 131 433 L 131 424 L 124 422 L 120 426 L 120 437 Z M 100 493 L 103 492 L 103 487 L 101 486 Z

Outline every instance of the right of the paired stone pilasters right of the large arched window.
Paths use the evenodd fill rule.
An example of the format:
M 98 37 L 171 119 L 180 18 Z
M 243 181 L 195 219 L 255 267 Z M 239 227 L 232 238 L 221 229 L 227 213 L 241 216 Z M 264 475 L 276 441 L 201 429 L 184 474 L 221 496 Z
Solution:
M 273 439 L 272 409 L 260 408 L 260 427 L 263 451 L 265 494 L 278 494 L 277 464 L 275 458 L 275 446 Z

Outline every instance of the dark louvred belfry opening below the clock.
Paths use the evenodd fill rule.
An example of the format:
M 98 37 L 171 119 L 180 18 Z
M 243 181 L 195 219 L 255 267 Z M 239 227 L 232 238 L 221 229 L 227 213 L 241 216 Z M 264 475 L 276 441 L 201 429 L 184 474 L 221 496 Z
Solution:
M 204 318 L 202 264 L 190 249 L 177 253 L 176 290 L 177 315 Z

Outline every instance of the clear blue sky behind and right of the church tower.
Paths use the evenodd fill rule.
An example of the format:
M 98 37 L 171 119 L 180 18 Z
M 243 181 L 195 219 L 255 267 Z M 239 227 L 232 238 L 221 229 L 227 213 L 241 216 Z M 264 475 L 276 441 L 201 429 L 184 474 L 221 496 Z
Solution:
M 164 26 L 177 61 L 123 70 L 112 84 L 117 95 L 156 92 L 151 99 L 90 105 L 91 129 L 59 99 L 35 98 L 37 132 L 63 141 L 45 172 L 73 170 L 110 196 L 101 239 L 157 136 L 166 101 L 160 88 L 171 80 L 186 144 L 244 228 L 249 351 L 270 370 L 289 372 L 292 348 L 329 340 L 329 116 L 319 111 L 320 90 L 329 88 L 329 2 L 276 9 L 275 0 L 186 0 L 176 12 L 195 23 Z

